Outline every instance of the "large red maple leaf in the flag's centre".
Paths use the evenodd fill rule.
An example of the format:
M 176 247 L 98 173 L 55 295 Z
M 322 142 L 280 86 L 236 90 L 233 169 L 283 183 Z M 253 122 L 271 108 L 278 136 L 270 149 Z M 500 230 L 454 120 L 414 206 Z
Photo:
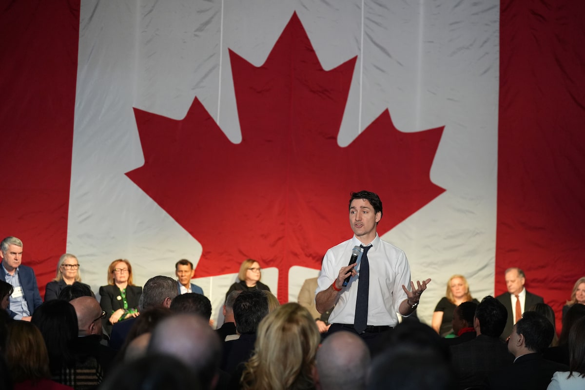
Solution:
M 443 127 L 402 133 L 386 110 L 339 147 L 356 57 L 325 71 L 296 14 L 260 67 L 229 54 L 241 143 L 197 98 L 182 120 L 135 109 L 145 162 L 126 175 L 201 243 L 197 277 L 254 258 L 286 301 L 292 265 L 320 268 L 351 237 L 350 192 L 380 195 L 381 235 L 444 191 L 429 179 Z

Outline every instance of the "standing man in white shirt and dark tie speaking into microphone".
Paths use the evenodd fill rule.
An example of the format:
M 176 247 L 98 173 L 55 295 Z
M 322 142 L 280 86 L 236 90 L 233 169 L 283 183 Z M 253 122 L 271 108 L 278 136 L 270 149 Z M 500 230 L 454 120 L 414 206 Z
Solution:
M 352 193 L 349 223 L 354 235 L 327 251 L 315 291 L 319 313 L 335 306 L 329 316 L 328 334 L 340 330 L 356 333 L 370 350 L 378 337 L 398 324 L 397 312 L 409 316 L 417 309 L 422 292 L 431 282 L 417 281 L 415 287 L 404 251 L 381 240 L 376 232 L 381 218 L 378 195 L 369 191 Z M 356 246 L 357 261 L 348 265 L 358 252 Z

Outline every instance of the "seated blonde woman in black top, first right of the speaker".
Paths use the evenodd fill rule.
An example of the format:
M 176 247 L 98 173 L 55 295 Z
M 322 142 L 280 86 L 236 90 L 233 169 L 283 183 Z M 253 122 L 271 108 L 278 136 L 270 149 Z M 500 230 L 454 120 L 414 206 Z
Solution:
M 445 295 L 437 303 L 431 320 L 431 327 L 441 337 L 453 333 L 453 312 L 457 306 L 463 302 L 473 302 L 479 305 L 479 301 L 474 299 L 469 292 L 469 284 L 463 275 L 453 275 L 449 278 Z

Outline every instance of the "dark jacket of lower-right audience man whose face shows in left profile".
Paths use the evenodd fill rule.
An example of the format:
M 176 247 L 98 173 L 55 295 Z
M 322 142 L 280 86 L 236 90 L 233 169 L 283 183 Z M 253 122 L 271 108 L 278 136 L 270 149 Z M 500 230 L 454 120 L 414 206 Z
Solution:
M 511 366 L 490 375 L 490 389 L 546 390 L 556 371 L 569 371 L 569 367 L 545 360 L 539 353 L 523 355 L 518 357 Z

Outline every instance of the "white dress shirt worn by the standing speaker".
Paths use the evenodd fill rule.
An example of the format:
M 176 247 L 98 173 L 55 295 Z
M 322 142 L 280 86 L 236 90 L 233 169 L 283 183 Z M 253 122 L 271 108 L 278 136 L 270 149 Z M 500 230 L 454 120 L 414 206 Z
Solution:
M 361 244 L 356 236 L 353 236 L 352 239 L 332 247 L 325 253 L 315 295 L 331 286 L 338 277 L 339 270 L 347 267 L 353 247 Z M 407 299 L 402 285 L 407 288 L 410 285 L 410 266 L 404 251 L 381 240 L 377 234 L 371 246 L 367 253 L 370 264 L 367 325 L 396 326 L 398 307 Z M 343 287 L 343 291 L 338 295 L 338 301 L 335 302 L 335 308 L 329 316 L 329 323 L 353 324 L 361 260 L 360 255 L 356 265 L 357 275 L 350 279 L 347 287 Z

